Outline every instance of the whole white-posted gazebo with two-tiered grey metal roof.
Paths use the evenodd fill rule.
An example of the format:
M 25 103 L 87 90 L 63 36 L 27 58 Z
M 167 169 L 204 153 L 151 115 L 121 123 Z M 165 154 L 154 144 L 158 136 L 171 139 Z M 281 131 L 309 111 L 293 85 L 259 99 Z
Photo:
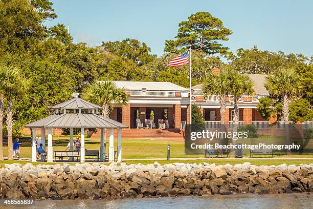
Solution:
M 41 128 L 41 141 L 43 149 L 46 141 L 46 128 L 48 129 L 47 162 L 53 161 L 52 129 L 70 128 L 70 151 L 73 151 L 73 129 L 81 129 L 80 162 L 85 161 L 85 129 L 101 129 L 100 159 L 105 153 L 104 129 L 109 129 L 108 160 L 114 161 L 114 129 L 118 129 L 117 159 L 122 160 L 121 129 L 127 128 L 123 123 L 98 115 L 102 107 L 79 97 L 62 102 L 51 108 L 53 115 L 27 124 L 25 127 L 32 129 L 32 161 L 36 161 L 36 128 Z

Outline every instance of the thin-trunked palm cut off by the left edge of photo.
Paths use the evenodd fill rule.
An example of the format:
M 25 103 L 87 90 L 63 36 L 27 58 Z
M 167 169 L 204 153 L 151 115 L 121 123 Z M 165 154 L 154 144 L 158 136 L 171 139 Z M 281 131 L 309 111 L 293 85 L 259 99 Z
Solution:
M 9 71 L 11 71 L 9 67 L 0 66 L 0 160 L 3 160 L 3 103 Z

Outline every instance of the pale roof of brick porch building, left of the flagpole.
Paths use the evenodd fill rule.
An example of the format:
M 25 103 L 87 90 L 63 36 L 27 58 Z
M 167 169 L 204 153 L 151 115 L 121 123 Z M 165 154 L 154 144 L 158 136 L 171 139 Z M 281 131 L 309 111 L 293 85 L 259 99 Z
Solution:
M 148 91 L 188 91 L 188 89 L 178 86 L 171 82 L 144 82 L 144 81 L 114 81 L 119 88 L 126 90 L 142 90 Z

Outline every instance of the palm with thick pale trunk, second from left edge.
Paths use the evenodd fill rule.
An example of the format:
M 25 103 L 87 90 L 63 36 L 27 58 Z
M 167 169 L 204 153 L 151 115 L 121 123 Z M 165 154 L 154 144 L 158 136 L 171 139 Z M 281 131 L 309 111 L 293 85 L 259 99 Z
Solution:
M 8 100 L 7 106 L 7 130 L 8 130 L 8 160 L 13 160 L 13 99 L 19 97 L 27 88 L 25 80 L 17 68 L 7 67 L 8 77 L 5 83 L 5 97 Z

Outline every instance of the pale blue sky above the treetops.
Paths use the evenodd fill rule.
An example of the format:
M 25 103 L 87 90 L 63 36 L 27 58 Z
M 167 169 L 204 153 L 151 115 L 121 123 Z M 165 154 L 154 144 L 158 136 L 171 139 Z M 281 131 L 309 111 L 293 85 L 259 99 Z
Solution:
M 163 54 L 178 24 L 199 11 L 210 12 L 232 30 L 224 46 L 313 55 L 313 1 L 85 1 L 52 0 L 58 17 L 45 24 L 70 26 L 74 42 L 97 46 L 101 41 L 135 38 L 151 53 Z

